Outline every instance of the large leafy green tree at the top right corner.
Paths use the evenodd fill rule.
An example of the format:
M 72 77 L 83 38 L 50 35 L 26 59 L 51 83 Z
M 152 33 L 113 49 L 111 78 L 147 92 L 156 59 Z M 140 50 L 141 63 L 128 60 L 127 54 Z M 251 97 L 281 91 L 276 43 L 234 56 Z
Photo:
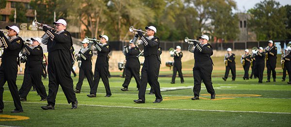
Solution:
M 264 0 L 257 3 L 251 14 L 248 26 L 257 34 L 258 40 L 286 39 L 286 9 L 275 0 Z

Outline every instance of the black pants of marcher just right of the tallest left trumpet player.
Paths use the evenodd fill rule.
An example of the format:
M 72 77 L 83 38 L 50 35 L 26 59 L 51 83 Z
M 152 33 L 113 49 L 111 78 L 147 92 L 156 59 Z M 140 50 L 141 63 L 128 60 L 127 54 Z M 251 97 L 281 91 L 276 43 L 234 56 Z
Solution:
M 84 78 L 87 78 L 90 88 L 93 86 L 93 72 L 91 66 L 81 66 L 79 70 L 79 81 L 76 85 L 76 89 L 81 91 Z

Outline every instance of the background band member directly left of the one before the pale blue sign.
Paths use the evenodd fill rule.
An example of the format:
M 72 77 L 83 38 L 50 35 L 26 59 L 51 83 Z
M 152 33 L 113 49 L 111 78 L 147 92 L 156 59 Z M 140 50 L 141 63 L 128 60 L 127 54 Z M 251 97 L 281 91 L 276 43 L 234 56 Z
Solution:
M 256 55 L 255 76 L 258 77 L 259 83 L 262 83 L 263 73 L 265 69 L 265 52 L 263 52 L 263 48 L 259 47 L 259 51 L 255 55 Z

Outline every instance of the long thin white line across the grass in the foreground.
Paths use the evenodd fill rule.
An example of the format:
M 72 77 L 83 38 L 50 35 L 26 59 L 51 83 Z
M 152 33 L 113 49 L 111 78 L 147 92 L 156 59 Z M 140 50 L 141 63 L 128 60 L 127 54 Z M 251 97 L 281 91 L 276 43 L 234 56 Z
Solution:
M 4 101 L 13 102 L 13 101 Z M 40 102 L 21 102 L 32 104 L 47 104 Z M 70 105 L 70 104 L 57 104 L 57 105 Z M 107 106 L 107 105 L 87 105 L 78 104 L 79 106 L 97 106 L 97 107 L 111 107 L 111 108 L 132 108 L 132 109 L 155 109 L 155 110 L 176 110 L 176 111 L 217 111 L 217 112 L 243 112 L 243 113 L 270 113 L 270 114 L 291 114 L 291 112 L 267 112 L 267 111 L 225 111 L 225 110 L 196 110 L 196 109 L 168 109 L 168 108 L 145 108 L 145 107 L 131 107 L 131 106 Z

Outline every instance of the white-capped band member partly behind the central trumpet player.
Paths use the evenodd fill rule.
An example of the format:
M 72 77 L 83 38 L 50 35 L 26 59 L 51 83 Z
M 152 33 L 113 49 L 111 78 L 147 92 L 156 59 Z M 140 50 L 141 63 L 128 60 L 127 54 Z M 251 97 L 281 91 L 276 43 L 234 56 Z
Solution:
M 132 76 L 135 79 L 136 87 L 139 89 L 141 79 L 140 79 L 140 61 L 138 57 L 136 57 L 140 53 L 139 48 L 134 45 L 134 42 L 132 40 L 129 41 L 129 46 L 125 47 L 125 58 L 126 58 L 126 64 L 125 64 L 125 80 L 122 84 L 123 88 L 122 91 L 128 91 L 129 83 L 132 78 Z

